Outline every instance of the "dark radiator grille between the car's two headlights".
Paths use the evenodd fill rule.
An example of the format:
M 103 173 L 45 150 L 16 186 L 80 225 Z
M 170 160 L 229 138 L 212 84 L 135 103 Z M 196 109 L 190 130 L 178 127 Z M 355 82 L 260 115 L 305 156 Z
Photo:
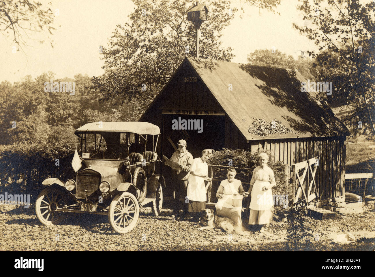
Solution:
M 77 189 L 75 197 L 82 199 L 90 196 L 94 191 L 98 190 L 99 183 L 101 181 L 101 175 L 93 171 L 84 171 L 77 174 Z

